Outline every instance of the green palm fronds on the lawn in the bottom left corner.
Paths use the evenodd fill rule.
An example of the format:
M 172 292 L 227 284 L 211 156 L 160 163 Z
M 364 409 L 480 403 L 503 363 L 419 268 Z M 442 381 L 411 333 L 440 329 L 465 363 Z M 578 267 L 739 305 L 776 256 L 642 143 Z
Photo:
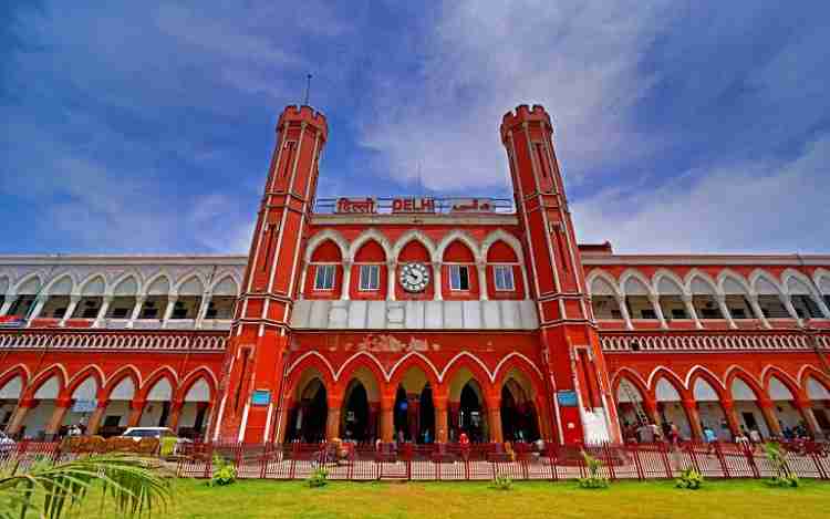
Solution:
M 101 455 L 52 464 L 40 461 L 19 470 L 0 470 L 0 519 L 60 519 L 80 507 L 90 489 L 102 484 L 101 507 L 110 501 L 118 517 L 152 515 L 170 498 L 170 484 L 156 460 Z

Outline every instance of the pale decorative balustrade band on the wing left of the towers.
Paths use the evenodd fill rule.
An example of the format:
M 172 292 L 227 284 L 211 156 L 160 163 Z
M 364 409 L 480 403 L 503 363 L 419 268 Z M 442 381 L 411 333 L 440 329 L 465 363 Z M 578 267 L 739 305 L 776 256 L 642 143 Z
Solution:
M 214 331 L 43 331 L 0 332 L 0 350 L 131 350 L 153 352 L 224 352 L 227 332 Z

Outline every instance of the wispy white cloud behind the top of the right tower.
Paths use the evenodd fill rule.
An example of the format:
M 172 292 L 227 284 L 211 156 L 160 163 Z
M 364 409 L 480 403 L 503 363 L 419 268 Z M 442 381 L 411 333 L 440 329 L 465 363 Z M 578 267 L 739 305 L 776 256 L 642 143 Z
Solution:
M 654 145 L 631 125 L 653 84 L 639 64 L 666 15 L 661 1 L 445 2 L 418 76 L 378 80 L 361 142 L 397 179 L 421 163 L 429 188 L 504 186 L 501 116 L 542 103 L 571 175 L 637 156 Z

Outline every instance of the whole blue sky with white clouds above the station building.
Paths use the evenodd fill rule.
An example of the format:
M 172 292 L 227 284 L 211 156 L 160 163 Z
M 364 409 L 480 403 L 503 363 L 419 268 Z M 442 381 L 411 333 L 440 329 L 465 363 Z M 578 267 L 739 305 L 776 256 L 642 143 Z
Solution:
M 246 252 L 286 104 L 320 196 L 508 196 L 552 114 L 579 239 L 830 251 L 827 2 L 3 2 L 0 253 Z

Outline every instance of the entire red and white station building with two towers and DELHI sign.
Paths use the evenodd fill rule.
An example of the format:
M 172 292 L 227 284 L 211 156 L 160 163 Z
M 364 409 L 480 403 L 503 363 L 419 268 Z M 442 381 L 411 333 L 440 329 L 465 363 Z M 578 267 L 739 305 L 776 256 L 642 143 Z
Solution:
M 250 253 L 0 257 L 0 424 L 248 443 L 830 433 L 830 256 L 579 245 L 541 106 L 512 200 L 315 199 L 325 117 L 287 107 Z

